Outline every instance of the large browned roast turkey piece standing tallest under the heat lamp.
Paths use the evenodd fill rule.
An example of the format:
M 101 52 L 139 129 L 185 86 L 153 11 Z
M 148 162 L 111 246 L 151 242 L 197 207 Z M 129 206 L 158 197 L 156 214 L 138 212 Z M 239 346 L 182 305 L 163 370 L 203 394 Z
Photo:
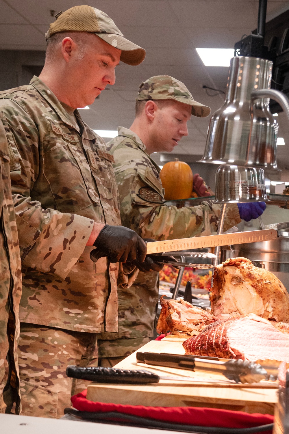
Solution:
M 289 295 L 285 286 L 249 259 L 232 258 L 216 266 L 210 301 L 212 313 L 228 319 L 255 313 L 276 322 L 289 322 Z

